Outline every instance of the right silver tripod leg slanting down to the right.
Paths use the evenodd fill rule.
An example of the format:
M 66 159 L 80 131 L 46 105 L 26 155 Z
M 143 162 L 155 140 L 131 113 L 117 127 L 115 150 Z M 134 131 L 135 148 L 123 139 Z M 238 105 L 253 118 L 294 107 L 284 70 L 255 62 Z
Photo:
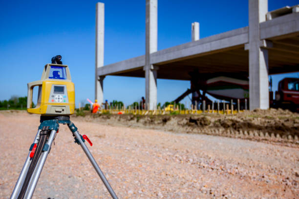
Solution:
M 86 154 L 87 158 L 89 159 L 89 161 L 91 162 L 92 166 L 94 167 L 94 169 L 96 170 L 96 172 L 98 173 L 100 178 L 102 179 L 102 181 L 105 184 L 105 186 L 106 186 L 108 192 L 110 193 L 111 197 L 113 199 L 118 199 L 116 194 L 114 193 L 112 187 L 110 186 L 108 180 L 106 179 L 105 175 L 103 174 L 102 170 L 100 169 L 99 165 L 97 164 L 96 160 L 93 158 L 93 156 L 91 155 L 91 153 L 88 150 L 87 146 L 85 145 L 84 141 L 81 139 L 81 135 L 77 131 L 77 127 L 72 122 L 68 125 L 68 127 L 73 132 L 74 136 L 80 142 L 80 145 L 81 145 L 83 151 L 85 152 L 85 154 Z

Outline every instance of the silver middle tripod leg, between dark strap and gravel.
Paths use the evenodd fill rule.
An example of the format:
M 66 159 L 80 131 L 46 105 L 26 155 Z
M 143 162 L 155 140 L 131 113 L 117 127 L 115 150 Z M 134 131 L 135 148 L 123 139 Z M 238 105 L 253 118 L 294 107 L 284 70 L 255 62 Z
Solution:
M 28 189 L 26 191 L 25 199 L 31 199 L 31 197 L 34 193 L 35 187 L 36 187 L 37 182 L 38 182 L 38 180 L 40 178 L 40 175 L 42 173 L 43 165 L 44 165 L 45 160 L 46 160 L 46 158 L 49 154 L 49 151 L 51 149 L 51 145 L 52 145 L 52 142 L 55 138 L 55 135 L 56 135 L 56 130 L 52 130 L 51 134 L 49 136 L 49 139 L 46 142 L 46 145 L 48 146 L 48 148 L 43 150 L 43 154 L 40 157 L 40 159 L 38 161 L 38 164 L 36 165 L 36 168 L 34 170 L 34 176 L 32 177 L 32 179 L 30 179 L 30 182 L 29 182 L 30 184 L 29 184 Z

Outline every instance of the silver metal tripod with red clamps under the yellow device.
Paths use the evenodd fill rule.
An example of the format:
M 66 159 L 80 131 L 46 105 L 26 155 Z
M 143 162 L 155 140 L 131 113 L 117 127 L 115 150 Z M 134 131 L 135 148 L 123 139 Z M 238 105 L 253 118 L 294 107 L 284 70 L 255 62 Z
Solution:
M 84 142 L 86 139 L 90 145 L 92 145 L 92 143 L 87 136 L 79 134 L 77 127 L 69 120 L 69 116 L 41 116 L 40 122 L 41 124 L 38 128 L 38 132 L 30 146 L 29 154 L 25 160 L 21 174 L 10 199 L 31 199 L 42 173 L 45 160 L 50 152 L 52 142 L 59 130 L 60 123 L 68 126 L 74 136 L 75 143 L 81 145 L 87 158 L 90 160 L 92 166 L 95 168 L 96 172 L 105 184 L 111 197 L 113 199 L 117 199 L 112 187 Z

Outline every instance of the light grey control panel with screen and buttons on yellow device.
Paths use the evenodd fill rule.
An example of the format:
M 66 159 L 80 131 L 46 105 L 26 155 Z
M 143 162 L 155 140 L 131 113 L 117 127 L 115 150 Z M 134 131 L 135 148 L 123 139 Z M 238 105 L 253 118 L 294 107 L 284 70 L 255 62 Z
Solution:
M 68 103 L 66 85 L 52 85 L 49 102 Z

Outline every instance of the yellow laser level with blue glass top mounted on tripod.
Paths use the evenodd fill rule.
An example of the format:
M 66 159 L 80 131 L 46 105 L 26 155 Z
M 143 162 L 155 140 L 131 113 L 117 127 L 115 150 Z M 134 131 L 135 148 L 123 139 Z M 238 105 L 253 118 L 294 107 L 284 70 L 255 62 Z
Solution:
M 32 107 L 33 88 L 37 105 Z M 75 85 L 67 65 L 46 64 L 41 80 L 28 83 L 27 112 L 43 116 L 71 115 L 75 110 Z

